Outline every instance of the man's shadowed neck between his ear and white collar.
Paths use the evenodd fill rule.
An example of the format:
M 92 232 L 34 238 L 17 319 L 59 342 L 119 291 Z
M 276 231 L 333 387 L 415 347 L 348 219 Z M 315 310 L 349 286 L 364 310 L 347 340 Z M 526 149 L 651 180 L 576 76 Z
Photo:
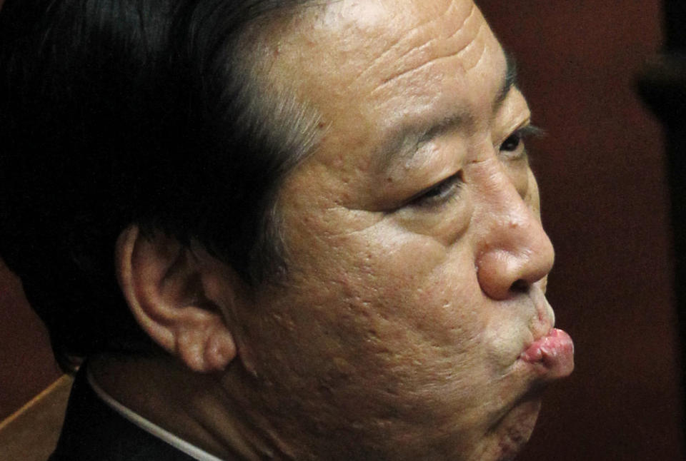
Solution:
M 250 392 L 242 392 L 246 373 L 239 368 L 200 374 L 160 355 L 89 361 L 96 383 L 116 401 L 222 460 L 289 459 L 247 401 Z

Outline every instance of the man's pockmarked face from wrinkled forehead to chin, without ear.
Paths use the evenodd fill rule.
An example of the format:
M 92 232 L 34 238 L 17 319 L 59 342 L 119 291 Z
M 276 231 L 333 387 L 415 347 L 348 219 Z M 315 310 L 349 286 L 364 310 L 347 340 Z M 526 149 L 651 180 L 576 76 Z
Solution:
M 279 438 L 328 459 L 509 457 L 572 359 L 557 333 L 529 348 L 554 323 L 553 250 L 489 26 L 469 0 L 342 0 L 272 46 L 323 133 L 279 195 L 288 280 L 237 335 Z

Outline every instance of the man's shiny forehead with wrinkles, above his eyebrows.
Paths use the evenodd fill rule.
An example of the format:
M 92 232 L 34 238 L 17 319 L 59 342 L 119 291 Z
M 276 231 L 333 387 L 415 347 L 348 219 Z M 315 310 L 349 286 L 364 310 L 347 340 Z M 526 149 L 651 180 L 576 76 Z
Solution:
M 455 118 L 486 123 L 506 73 L 471 0 L 333 1 L 305 8 L 277 36 L 272 78 L 319 111 L 332 142 L 381 142 Z

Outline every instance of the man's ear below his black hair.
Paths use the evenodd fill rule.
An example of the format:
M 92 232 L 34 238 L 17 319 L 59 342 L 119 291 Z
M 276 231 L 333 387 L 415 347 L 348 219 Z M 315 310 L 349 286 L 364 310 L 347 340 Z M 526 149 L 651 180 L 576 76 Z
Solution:
M 192 370 L 211 372 L 236 356 L 228 327 L 236 298 L 208 297 L 204 279 L 217 280 L 209 272 L 219 263 L 204 264 L 202 258 L 211 256 L 198 256 L 162 233 L 141 235 L 137 226 L 126 228 L 116 242 L 119 286 L 139 325 Z

